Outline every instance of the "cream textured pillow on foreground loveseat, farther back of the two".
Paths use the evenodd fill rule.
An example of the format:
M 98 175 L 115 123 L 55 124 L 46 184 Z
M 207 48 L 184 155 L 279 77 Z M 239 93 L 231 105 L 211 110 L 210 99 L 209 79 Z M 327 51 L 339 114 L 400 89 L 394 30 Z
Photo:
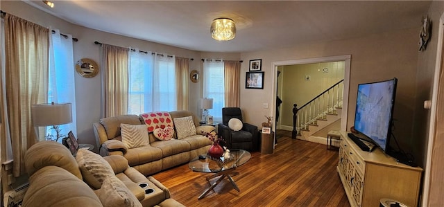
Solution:
M 115 176 L 110 163 L 99 154 L 89 150 L 79 149 L 76 161 L 80 172 L 82 172 L 83 180 L 95 189 L 101 188 L 107 177 Z

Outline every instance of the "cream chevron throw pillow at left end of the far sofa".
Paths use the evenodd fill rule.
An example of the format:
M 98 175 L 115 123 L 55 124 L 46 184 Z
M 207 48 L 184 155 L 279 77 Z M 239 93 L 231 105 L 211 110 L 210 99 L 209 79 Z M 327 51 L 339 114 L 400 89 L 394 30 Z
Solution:
M 146 125 L 127 125 L 120 124 L 120 134 L 122 142 L 128 149 L 142 147 L 150 144 Z

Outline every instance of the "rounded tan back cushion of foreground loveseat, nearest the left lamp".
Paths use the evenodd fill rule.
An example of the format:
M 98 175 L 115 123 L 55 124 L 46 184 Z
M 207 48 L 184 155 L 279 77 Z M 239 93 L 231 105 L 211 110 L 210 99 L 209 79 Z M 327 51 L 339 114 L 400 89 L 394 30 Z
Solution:
M 55 141 L 41 141 L 29 147 L 25 154 L 25 168 L 28 176 L 45 166 L 55 165 L 82 179 L 78 164 L 68 148 Z

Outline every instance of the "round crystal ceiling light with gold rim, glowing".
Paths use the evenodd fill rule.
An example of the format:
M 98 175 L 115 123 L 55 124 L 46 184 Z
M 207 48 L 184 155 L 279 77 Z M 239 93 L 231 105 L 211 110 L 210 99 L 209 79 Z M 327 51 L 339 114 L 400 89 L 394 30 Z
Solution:
M 228 41 L 236 37 L 236 25 L 232 19 L 214 19 L 211 28 L 211 37 L 219 41 Z

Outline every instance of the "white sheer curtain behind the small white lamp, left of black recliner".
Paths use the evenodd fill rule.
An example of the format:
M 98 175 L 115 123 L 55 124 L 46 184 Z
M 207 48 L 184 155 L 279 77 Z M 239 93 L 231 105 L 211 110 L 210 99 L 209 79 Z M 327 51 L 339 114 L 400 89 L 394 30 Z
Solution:
M 222 121 L 222 108 L 225 107 L 223 69 L 222 60 L 203 62 L 203 98 L 213 98 L 213 108 L 208 111 L 216 122 Z

